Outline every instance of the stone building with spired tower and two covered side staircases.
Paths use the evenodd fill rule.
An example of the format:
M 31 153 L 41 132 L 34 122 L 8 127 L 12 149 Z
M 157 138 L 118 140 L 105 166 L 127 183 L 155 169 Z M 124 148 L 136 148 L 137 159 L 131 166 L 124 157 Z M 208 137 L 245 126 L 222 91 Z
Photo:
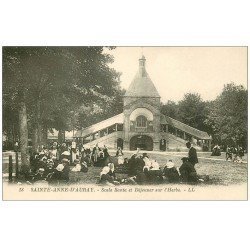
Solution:
M 77 131 L 75 137 L 93 147 L 127 150 L 179 151 L 191 141 L 197 149 L 210 149 L 211 137 L 160 113 L 160 95 L 146 71 L 146 59 L 139 59 L 139 70 L 124 95 L 123 113 Z

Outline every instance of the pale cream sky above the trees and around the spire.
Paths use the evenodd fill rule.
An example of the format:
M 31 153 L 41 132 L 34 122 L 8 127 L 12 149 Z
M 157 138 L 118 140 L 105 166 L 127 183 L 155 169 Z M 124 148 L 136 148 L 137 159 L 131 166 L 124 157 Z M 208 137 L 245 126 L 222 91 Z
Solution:
M 162 102 L 180 101 L 189 92 L 214 100 L 230 82 L 247 88 L 247 47 L 116 47 L 108 53 L 114 56 L 111 67 L 122 73 L 125 89 L 143 54 Z

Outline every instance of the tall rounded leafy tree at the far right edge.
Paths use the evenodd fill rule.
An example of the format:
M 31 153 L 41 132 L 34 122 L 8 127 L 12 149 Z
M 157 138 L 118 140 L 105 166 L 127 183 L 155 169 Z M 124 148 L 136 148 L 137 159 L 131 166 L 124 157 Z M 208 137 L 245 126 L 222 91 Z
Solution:
M 212 103 L 206 124 L 213 137 L 225 145 L 247 147 L 247 90 L 235 83 L 226 84 Z

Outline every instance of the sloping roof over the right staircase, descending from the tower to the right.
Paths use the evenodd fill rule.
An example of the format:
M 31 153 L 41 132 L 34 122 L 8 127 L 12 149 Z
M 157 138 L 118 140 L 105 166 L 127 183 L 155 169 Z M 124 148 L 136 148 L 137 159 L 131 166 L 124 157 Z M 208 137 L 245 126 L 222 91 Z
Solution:
M 179 122 L 179 121 L 177 121 L 169 116 L 165 116 L 165 119 L 166 119 L 166 124 L 171 125 L 177 129 L 180 129 L 180 130 L 186 132 L 187 134 L 195 136 L 198 139 L 201 139 L 201 140 L 211 139 L 207 132 L 190 127 L 190 126 L 188 126 L 182 122 Z M 161 121 L 163 121 L 163 118 L 161 118 Z

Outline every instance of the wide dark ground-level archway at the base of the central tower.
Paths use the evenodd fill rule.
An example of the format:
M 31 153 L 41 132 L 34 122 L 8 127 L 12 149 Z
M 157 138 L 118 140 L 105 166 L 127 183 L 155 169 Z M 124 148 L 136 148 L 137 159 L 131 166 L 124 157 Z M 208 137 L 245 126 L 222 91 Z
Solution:
M 136 135 L 130 139 L 130 150 L 153 150 L 153 139 L 147 135 Z

